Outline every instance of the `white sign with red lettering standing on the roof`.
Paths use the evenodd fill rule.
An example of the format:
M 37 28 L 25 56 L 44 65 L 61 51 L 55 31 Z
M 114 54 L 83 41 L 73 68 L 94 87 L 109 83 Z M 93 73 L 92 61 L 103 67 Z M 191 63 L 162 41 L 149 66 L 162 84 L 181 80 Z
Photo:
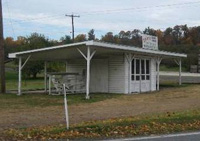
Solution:
M 142 34 L 142 48 L 158 50 L 158 37 Z

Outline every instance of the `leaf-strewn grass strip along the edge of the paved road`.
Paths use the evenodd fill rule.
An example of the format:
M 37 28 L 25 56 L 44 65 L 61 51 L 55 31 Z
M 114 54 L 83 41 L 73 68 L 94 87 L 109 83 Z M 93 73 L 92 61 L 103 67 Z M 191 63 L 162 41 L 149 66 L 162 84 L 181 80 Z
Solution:
M 103 139 L 140 135 L 168 134 L 200 129 L 200 110 L 167 112 L 150 116 L 135 116 L 39 128 L 10 129 L 4 132 L 8 139 Z

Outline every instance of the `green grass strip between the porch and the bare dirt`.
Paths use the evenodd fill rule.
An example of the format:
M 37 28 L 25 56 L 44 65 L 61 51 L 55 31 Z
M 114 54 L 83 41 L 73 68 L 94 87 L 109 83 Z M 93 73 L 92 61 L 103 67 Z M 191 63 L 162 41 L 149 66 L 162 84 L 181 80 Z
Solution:
M 69 105 L 81 103 L 94 103 L 106 99 L 120 97 L 119 94 L 91 94 L 91 99 L 86 100 L 85 94 L 68 95 Z M 23 109 L 33 107 L 48 107 L 63 105 L 63 96 L 49 96 L 46 94 L 25 94 L 17 96 L 16 94 L 0 95 L 0 109 Z

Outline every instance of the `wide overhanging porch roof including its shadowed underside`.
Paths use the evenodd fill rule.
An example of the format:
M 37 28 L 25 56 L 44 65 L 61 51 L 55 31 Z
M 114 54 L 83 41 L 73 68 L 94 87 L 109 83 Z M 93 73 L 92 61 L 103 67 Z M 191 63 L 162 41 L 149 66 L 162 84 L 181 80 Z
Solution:
M 19 58 L 19 57 L 27 58 L 28 56 L 31 56 L 30 60 L 45 60 L 45 61 L 80 58 L 82 57 L 82 55 L 77 51 L 77 48 L 80 49 L 83 53 L 86 53 L 87 46 L 90 46 L 91 50 L 96 50 L 95 56 L 101 56 L 111 53 L 129 52 L 138 55 L 161 56 L 166 58 L 187 57 L 186 54 L 175 53 L 175 52 L 150 50 L 135 46 L 125 46 L 125 45 L 118 45 L 118 44 L 111 44 L 111 43 L 97 42 L 97 41 L 85 41 L 80 43 L 72 43 L 60 46 L 10 53 L 9 58 Z

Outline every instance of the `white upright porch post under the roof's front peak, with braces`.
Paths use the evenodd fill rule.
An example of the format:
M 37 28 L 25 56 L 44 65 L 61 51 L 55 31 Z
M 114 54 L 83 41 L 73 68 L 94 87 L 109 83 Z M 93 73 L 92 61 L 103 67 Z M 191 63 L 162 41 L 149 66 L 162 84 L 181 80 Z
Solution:
M 90 47 L 87 47 L 87 80 L 86 80 L 86 99 L 90 99 Z

